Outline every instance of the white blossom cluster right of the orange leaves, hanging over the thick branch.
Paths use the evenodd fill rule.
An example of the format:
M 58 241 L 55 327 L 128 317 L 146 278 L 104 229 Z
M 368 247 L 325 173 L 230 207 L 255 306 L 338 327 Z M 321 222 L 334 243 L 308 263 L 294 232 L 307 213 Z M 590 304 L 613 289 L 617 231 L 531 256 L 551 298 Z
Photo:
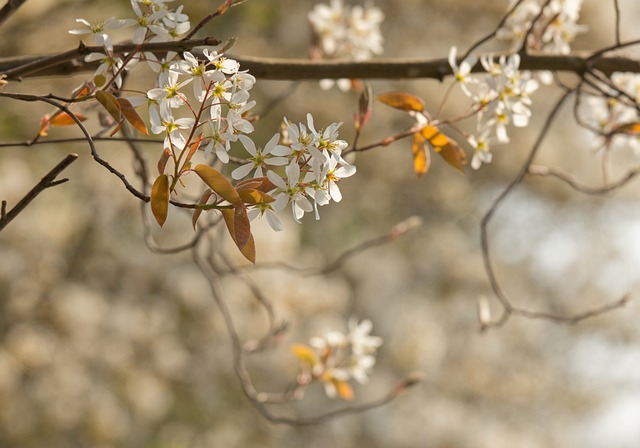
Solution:
M 538 89 L 538 82 L 531 73 L 520 71 L 520 56 L 501 56 L 496 62 L 491 56 L 480 58 L 487 73 L 473 75 L 471 69 L 476 56 L 466 57 L 460 65 L 456 60 L 456 48 L 451 48 L 449 64 L 462 91 L 473 101 L 477 110 L 477 135 L 468 137 L 475 149 L 471 167 L 478 169 L 492 159 L 493 143 L 509 142 L 508 126 L 525 127 L 531 117 L 531 93 Z

